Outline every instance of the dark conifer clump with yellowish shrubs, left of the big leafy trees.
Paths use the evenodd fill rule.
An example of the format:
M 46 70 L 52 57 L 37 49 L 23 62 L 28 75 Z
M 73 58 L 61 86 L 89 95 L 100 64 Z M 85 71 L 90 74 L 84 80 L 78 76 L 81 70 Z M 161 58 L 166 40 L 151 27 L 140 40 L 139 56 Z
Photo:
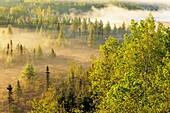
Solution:
M 69 73 L 69 78 L 66 80 L 62 80 L 56 86 L 56 89 L 49 90 L 45 93 L 52 94 L 56 96 L 51 96 L 52 103 L 55 105 L 47 104 L 48 109 L 52 111 L 59 112 L 69 112 L 75 113 L 76 111 L 81 111 L 83 113 L 90 112 L 94 110 L 93 101 L 91 99 L 91 93 L 88 91 L 88 77 L 84 75 L 81 66 L 74 67 L 71 69 Z M 81 81 L 81 82 L 80 82 Z M 46 106 L 43 106 L 48 101 L 49 97 L 43 97 L 40 101 L 33 101 L 33 111 L 41 110 L 45 112 Z M 55 106 L 55 107 L 54 107 Z

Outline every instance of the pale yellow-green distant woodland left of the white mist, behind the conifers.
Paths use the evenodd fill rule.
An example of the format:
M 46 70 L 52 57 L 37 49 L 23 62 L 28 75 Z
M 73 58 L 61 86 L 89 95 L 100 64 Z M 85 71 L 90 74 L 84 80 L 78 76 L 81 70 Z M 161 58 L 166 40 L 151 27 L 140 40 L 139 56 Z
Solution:
M 35 27 L 37 25 L 41 26 L 42 23 L 39 21 L 43 19 L 41 21 L 43 21 L 44 24 L 47 22 L 52 25 L 54 23 L 51 23 L 51 21 L 57 23 L 57 19 L 64 14 L 81 14 L 90 11 L 92 6 L 96 8 L 105 7 L 103 4 L 90 4 L 85 2 L 10 1 L 4 2 L 0 5 L 0 19 L 1 24 L 22 25 L 25 23 L 24 25 L 28 27 Z M 34 22 L 30 22 L 31 20 L 34 20 Z

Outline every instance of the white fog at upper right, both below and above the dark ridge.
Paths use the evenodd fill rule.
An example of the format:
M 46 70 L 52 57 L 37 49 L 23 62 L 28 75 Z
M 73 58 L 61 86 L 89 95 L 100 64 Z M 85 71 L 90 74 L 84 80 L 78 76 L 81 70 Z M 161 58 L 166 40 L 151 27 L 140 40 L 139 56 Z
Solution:
M 88 1 L 88 0 L 85 0 Z M 112 1 L 112 0 L 111 0 Z M 115 1 L 125 1 L 125 0 L 115 0 Z M 156 21 L 160 22 L 170 22 L 170 1 L 168 0 L 126 0 L 126 2 L 136 2 L 137 4 L 148 4 L 152 6 L 159 6 L 158 11 L 149 10 L 128 10 L 125 8 L 116 7 L 114 5 L 108 5 L 105 8 L 97 9 L 92 7 L 92 11 L 77 15 L 80 17 L 90 18 L 91 21 L 102 20 L 104 24 L 108 21 L 113 24 L 120 25 L 122 22 L 129 23 L 132 19 L 139 21 L 141 19 L 147 18 L 149 13 L 155 17 Z M 75 14 L 71 14 L 75 16 Z

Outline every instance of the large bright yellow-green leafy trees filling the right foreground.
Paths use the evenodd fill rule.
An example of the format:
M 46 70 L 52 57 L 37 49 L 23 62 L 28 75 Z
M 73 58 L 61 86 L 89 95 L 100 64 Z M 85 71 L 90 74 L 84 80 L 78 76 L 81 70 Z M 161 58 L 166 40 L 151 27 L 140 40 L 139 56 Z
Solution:
M 156 31 L 151 15 L 139 24 L 132 21 L 131 34 L 125 36 L 124 43 L 117 48 L 117 51 L 108 55 L 113 62 L 113 73 L 107 74 L 111 76 L 107 81 L 101 80 L 107 87 L 105 92 L 103 91 L 106 97 L 102 96 L 103 100 L 98 102 L 102 103 L 99 105 L 99 112 L 169 111 L 170 72 L 167 70 L 170 68 L 168 66 L 170 59 L 169 50 L 166 48 L 168 40 L 165 41 L 165 34 L 169 28 L 162 26 L 159 31 L 160 29 L 164 32 Z M 160 35 L 161 38 L 158 37 Z M 96 74 L 92 77 L 93 86 L 96 84 Z M 99 84 L 100 90 L 101 86 L 102 84 Z

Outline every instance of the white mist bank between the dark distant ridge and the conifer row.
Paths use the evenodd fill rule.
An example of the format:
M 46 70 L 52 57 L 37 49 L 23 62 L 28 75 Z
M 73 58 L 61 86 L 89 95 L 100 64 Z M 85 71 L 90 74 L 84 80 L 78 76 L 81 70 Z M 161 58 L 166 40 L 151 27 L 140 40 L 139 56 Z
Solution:
M 84 18 L 90 18 L 91 21 L 102 20 L 104 24 L 108 21 L 113 24 L 120 25 L 124 21 L 129 23 L 132 19 L 139 21 L 147 18 L 148 14 L 152 13 L 156 21 L 159 22 L 170 22 L 170 8 L 161 9 L 158 11 L 148 10 L 128 10 L 114 5 L 108 5 L 105 8 L 97 9 L 92 7 L 92 11 L 78 15 Z

